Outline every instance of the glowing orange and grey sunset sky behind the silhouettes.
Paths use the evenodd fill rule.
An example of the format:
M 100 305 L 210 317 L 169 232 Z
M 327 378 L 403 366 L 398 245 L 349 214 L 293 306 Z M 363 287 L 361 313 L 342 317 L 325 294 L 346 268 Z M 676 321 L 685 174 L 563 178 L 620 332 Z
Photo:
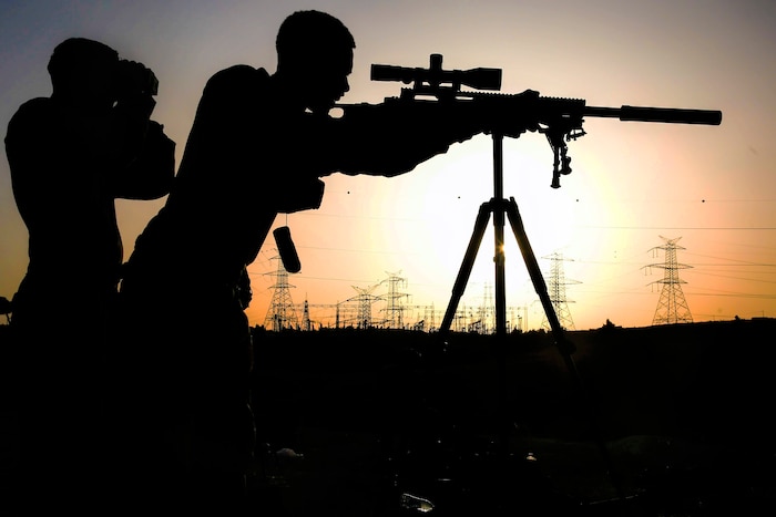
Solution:
M 655 250 L 665 244 L 661 236 L 680 238 L 678 262 L 692 266 L 680 275 L 695 321 L 776 317 L 772 2 L 6 2 L 0 126 L 4 132 L 22 102 L 50 94 L 52 49 L 83 35 L 155 71 L 154 115 L 181 153 L 207 77 L 235 63 L 273 71 L 277 27 L 306 8 L 338 15 L 356 37 L 344 102 L 398 95 L 400 83 L 369 80 L 370 64 L 428 66 L 429 55 L 441 53 L 446 69 L 502 69 L 508 93 L 532 89 L 589 105 L 722 110 L 721 126 L 589 118 L 588 135 L 569 146 L 573 173 L 560 189 L 550 188 L 552 153 L 543 136 L 507 141 L 504 194 L 518 201 L 548 282 L 550 257 L 563 257 L 576 329 L 606 319 L 652 323 L 660 298 L 654 282 L 664 271 L 650 266 L 664 263 Z M 478 208 L 493 194 L 491 154 L 491 141 L 480 136 L 400 177 L 326 178 L 320 209 L 277 220 L 290 226 L 303 263 L 288 278 L 293 302 L 307 299 L 313 319 L 333 324 L 331 306 L 369 291 L 384 300 L 374 303 L 379 320 L 395 277 L 395 292 L 406 294 L 405 322 L 428 318 L 433 307 L 439 324 Z M 118 206 L 129 255 L 160 203 Z M 27 266 L 27 232 L 4 158 L 0 228 L 0 296 L 11 298 Z M 489 229 L 461 300 L 469 313 L 492 296 L 492 255 Z M 264 323 L 277 282 L 276 256 L 269 238 L 249 267 L 248 316 L 256 324 Z M 508 318 L 539 327 L 541 306 L 509 231 L 507 288 Z

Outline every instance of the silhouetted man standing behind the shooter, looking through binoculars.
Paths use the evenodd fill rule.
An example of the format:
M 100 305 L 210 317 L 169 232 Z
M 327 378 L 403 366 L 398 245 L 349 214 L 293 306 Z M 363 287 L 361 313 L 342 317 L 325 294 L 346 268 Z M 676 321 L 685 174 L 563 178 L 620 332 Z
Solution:
M 156 79 L 142 64 L 72 38 L 54 49 L 48 70 L 51 96 L 22 104 L 6 136 L 29 231 L 11 320 L 20 504 L 30 515 L 105 515 L 102 482 L 111 476 L 100 459 L 112 447 L 104 374 L 113 361 L 105 333 L 124 259 L 114 199 L 166 195 L 175 143 L 150 120 Z

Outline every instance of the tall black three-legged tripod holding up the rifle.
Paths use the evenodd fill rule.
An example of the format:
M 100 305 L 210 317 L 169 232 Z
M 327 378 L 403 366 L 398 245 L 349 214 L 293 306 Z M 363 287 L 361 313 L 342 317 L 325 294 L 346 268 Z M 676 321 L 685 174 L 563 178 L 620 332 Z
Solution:
M 572 354 L 575 351 L 575 347 L 571 343 L 564 333 L 563 328 L 558 319 L 558 314 L 550 299 L 550 294 L 547 289 L 547 283 L 542 276 L 541 269 L 539 268 L 539 262 L 533 254 L 531 244 L 528 240 L 528 235 L 525 234 L 525 228 L 523 226 L 522 217 L 518 210 L 518 204 L 514 201 L 513 197 L 506 199 L 503 196 L 503 135 L 498 133 L 492 133 L 493 138 L 493 197 L 480 205 L 480 209 L 477 215 L 477 220 L 474 223 L 474 229 L 469 240 L 469 246 L 467 247 L 466 255 L 463 256 L 463 261 L 461 262 L 461 268 L 456 278 L 456 282 L 452 288 L 452 296 L 450 302 L 445 312 L 445 318 L 439 328 L 439 333 L 442 339 L 445 339 L 450 331 L 450 325 L 458 310 L 458 303 L 466 290 L 467 282 L 471 275 L 472 267 L 474 265 L 474 259 L 479 251 L 479 247 L 482 242 L 482 237 L 484 236 L 486 228 L 488 226 L 490 216 L 493 216 L 493 262 L 494 262 L 494 275 L 496 275 L 496 335 L 497 335 L 497 349 L 498 349 L 498 375 L 499 375 L 499 401 L 500 407 L 503 411 L 506 405 L 504 397 L 504 384 L 506 384 L 506 337 L 507 337 L 507 294 L 506 294 L 506 256 L 504 256 L 504 226 L 506 220 L 509 219 L 510 227 L 514 234 L 514 238 L 520 247 L 520 252 L 528 268 L 528 272 L 531 277 L 531 282 L 533 288 L 539 296 L 539 300 L 542 303 L 544 313 L 547 314 L 547 320 L 550 324 L 552 331 L 552 338 L 554 344 L 560 352 L 569 373 L 572 375 L 574 383 L 576 384 L 580 394 L 582 395 L 582 401 L 590 410 L 590 420 L 595 433 L 595 440 L 598 442 L 599 449 L 601 452 L 602 458 L 613 477 L 613 485 L 617 492 L 620 498 L 623 498 L 623 494 L 620 484 L 613 476 L 614 471 L 612 468 L 611 458 L 609 451 L 603 442 L 602 434 L 598 426 L 598 411 L 594 404 L 588 397 L 584 383 L 576 369 L 576 364 Z M 502 437 L 500 447 L 502 453 L 508 453 L 509 443 L 509 422 L 504 415 L 502 415 Z

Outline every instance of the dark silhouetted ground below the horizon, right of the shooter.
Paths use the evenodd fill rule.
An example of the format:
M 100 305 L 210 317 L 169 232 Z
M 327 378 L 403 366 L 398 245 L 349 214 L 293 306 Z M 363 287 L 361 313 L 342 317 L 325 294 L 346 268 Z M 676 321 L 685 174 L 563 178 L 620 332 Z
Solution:
M 257 507 L 774 515 L 774 335 L 766 319 L 609 325 L 566 333 L 570 365 L 544 332 L 257 329 Z

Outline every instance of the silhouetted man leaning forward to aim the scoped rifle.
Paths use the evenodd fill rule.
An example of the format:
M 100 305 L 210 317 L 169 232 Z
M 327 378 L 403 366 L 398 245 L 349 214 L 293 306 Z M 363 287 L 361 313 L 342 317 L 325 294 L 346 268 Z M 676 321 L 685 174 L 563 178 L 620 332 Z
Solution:
M 318 208 L 320 177 L 404 174 L 486 130 L 464 108 L 376 105 L 330 117 L 349 89 L 355 42 L 329 14 L 293 13 L 276 48 L 273 74 L 235 65 L 208 80 L 172 193 L 137 238 L 122 282 L 136 332 L 126 349 L 147 387 L 137 435 L 145 451 L 157 447 L 152 463 L 171 461 L 156 462 L 150 480 L 200 508 L 244 494 L 254 422 L 241 279 L 276 216 Z

